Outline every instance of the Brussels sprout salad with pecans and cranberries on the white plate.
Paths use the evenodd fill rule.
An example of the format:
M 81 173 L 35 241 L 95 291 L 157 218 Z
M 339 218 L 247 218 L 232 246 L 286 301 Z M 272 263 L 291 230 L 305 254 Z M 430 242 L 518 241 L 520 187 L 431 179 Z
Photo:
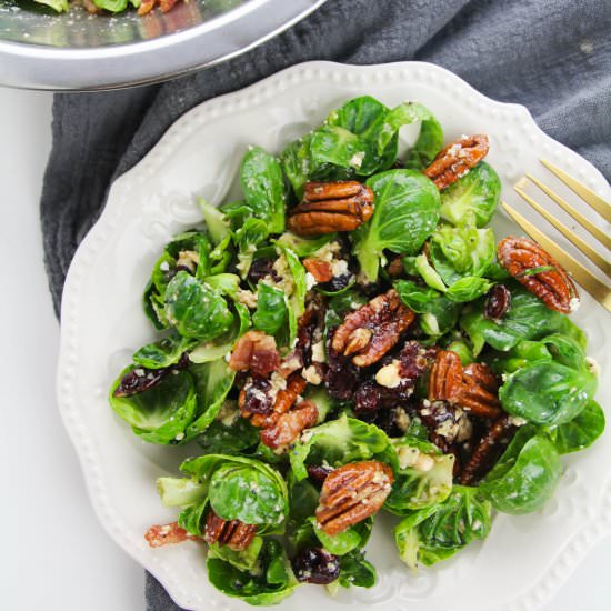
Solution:
M 279 156 L 250 148 L 241 200 L 200 201 L 144 289 L 158 335 L 110 390 L 136 435 L 191 444 L 151 547 L 206 543 L 209 581 L 264 605 L 372 587 L 381 511 L 417 568 L 550 499 L 561 455 L 603 432 L 597 368 L 570 276 L 488 227 L 488 150 L 365 96 Z

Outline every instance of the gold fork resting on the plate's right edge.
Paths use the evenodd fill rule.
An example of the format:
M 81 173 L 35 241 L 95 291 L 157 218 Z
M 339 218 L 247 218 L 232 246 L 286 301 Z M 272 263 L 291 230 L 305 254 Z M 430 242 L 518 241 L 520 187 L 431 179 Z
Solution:
M 584 184 L 575 180 L 573 177 L 545 161 L 541 160 L 553 174 L 557 176 L 567 187 L 577 193 L 590 208 L 595 210 L 605 221 L 611 222 L 611 203 L 604 201 L 600 196 L 588 189 Z M 562 224 L 553 214 L 548 212 L 541 204 L 537 203 L 525 191 L 524 187 L 530 182 L 535 184 L 549 198 L 551 198 L 560 208 L 569 213 L 583 229 L 585 229 L 603 248 L 593 248 L 573 233 L 567 226 Z M 554 193 L 549 187 L 531 174 L 522 177 L 513 187 L 515 192 L 522 197 L 539 214 L 541 214 L 551 226 L 553 226 L 562 236 L 573 243 L 592 263 L 601 269 L 605 277 L 611 276 L 611 262 L 608 258 L 608 251 L 611 249 L 611 238 L 592 221 L 583 217 L 564 199 Z M 590 270 L 583 267 L 579 261 L 564 252 L 553 240 L 548 238 L 540 229 L 534 227 L 520 212 L 513 209 L 508 203 L 502 203 L 507 213 L 541 247 L 547 250 L 567 271 L 581 284 L 598 302 L 600 302 L 609 312 L 611 312 L 611 289 L 609 286 L 595 277 Z

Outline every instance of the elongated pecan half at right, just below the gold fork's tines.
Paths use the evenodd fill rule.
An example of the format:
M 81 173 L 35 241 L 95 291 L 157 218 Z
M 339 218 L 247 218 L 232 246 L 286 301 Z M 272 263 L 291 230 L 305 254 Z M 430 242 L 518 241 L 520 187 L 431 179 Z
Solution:
M 499 242 L 497 257 L 520 284 L 551 310 L 569 314 L 579 306 L 579 293 L 571 277 L 532 240 L 509 236 Z

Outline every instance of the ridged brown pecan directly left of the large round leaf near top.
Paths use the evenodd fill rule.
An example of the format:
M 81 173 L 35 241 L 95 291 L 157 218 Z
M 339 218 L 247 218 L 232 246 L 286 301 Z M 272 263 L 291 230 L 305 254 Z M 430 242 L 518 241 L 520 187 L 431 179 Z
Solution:
M 289 211 L 288 228 L 298 236 L 352 231 L 373 214 L 373 191 L 360 182 L 307 182 L 303 200 Z

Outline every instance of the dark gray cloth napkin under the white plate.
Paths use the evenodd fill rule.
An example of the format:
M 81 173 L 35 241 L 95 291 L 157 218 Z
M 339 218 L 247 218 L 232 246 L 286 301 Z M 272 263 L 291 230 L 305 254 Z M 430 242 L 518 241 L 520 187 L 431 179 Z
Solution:
M 308 60 L 443 66 L 497 100 L 525 104 L 550 136 L 611 180 L 609 0 L 328 0 L 278 38 L 164 84 L 58 93 L 41 203 L 56 311 L 74 250 L 111 181 L 193 106 Z M 147 610 L 177 611 L 147 577 Z

